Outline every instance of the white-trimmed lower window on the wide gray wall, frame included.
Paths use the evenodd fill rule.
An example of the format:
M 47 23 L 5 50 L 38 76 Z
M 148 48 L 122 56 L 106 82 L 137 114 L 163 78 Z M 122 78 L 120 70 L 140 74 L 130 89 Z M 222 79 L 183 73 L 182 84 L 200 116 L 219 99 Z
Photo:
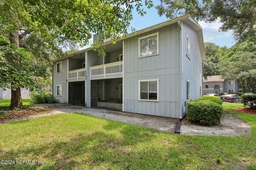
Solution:
M 158 101 L 159 79 L 139 80 L 139 100 Z

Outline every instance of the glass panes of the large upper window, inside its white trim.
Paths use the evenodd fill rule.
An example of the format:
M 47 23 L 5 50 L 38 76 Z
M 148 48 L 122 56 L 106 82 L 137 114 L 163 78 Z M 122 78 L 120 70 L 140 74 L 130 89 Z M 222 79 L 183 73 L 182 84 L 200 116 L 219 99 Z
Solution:
M 140 56 L 157 54 L 157 35 L 140 40 Z

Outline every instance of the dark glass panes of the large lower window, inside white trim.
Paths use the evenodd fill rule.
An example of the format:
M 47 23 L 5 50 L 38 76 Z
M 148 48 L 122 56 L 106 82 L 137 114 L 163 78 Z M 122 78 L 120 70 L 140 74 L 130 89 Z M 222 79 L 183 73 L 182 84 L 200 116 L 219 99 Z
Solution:
M 157 81 L 140 82 L 140 99 L 157 100 Z

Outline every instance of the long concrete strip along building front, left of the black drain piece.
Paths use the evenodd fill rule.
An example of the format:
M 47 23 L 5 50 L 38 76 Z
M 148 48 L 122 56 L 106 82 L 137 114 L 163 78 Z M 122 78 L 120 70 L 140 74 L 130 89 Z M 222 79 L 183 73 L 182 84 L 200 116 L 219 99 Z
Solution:
M 80 106 L 72 106 L 67 104 L 47 104 L 48 107 L 64 113 L 83 113 L 95 117 L 106 118 L 124 123 L 145 126 L 147 128 L 157 129 L 159 131 L 174 132 L 175 123 L 178 119 L 165 118 L 159 116 L 150 116 L 126 112 L 109 111 L 99 108 L 85 108 Z

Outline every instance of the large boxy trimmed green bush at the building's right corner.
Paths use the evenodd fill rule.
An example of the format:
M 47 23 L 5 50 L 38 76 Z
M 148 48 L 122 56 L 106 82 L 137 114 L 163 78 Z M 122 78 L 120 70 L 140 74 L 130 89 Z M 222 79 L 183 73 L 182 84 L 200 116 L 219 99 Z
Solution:
M 213 101 L 192 100 L 187 104 L 187 118 L 189 122 L 215 125 L 220 123 L 222 114 L 222 106 Z

